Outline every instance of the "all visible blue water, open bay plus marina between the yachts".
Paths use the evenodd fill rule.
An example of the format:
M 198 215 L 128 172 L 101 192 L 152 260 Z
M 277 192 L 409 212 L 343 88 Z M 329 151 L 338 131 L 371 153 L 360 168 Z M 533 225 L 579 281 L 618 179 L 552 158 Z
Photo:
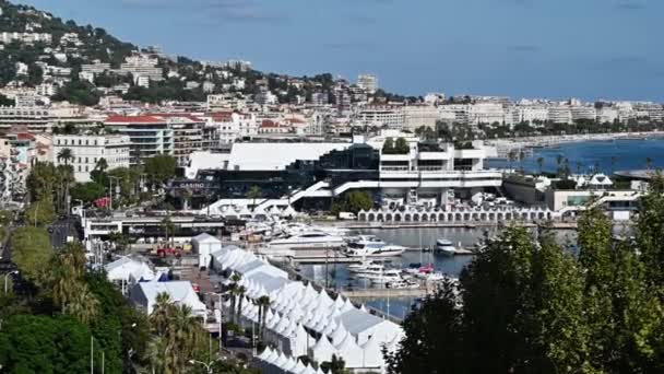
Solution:
M 555 173 L 558 168 L 556 159 L 562 155 L 569 160 L 572 173 L 576 173 L 577 164 L 581 172 L 590 172 L 595 165 L 602 173 L 607 175 L 616 171 L 644 170 L 650 157 L 652 168 L 664 168 L 664 139 L 652 140 L 614 140 L 614 141 L 588 141 L 560 144 L 554 148 L 535 149 L 531 156 L 522 162 L 512 162 L 512 167 L 522 166 L 524 170 L 537 173 L 540 165 L 537 159 L 544 159 L 543 170 Z M 508 167 L 506 160 L 491 160 L 489 167 Z M 485 235 L 494 235 L 497 227 L 404 227 L 363 230 L 361 234 L 371 234 L 380 237 L 387 243 L 398 244 L 410 248 L 431 248 L 438 238 L 447 238 L 455 245 L 471 247 Z M 576 233 L 573 231 L 557 231 L 557 239 L 560 244 L 573 245 Z M 437 270 L 450 276 L 458 277 L 463 268 L 472 260 L 471 256 L 447 257 L 430 252 L 408 250 L 399 258 L 391 260 L 390 266 L 408 267 L 411 264 L 434 264 Z M 343 264 L 306 265 L 301 267 L 306 277 L 315 279 L 320 284 L 328 284 L 335 289 L 368 288 L 366 281 L 354 279 Z M 405 318 L 410 313 L 415 300 L 405 299 L 374 299 L 366 300 L 366 305 L 383 311 L 398 318 Z

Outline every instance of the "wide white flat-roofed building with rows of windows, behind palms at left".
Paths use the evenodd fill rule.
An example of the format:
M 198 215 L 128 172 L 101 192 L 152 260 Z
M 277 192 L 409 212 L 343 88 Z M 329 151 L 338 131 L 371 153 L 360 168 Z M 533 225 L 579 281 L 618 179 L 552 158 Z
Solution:
M 128 136 L 54 136 L 54 163 L 72 165 L 76 182 L 90 182 L 90 172 L 94 171 L 100 159 L 106 160 L 108 170 L 129 167 L 130 139 Z M 73 160 L 59 160 L 58 154 L 64 149 L 71 150 Z

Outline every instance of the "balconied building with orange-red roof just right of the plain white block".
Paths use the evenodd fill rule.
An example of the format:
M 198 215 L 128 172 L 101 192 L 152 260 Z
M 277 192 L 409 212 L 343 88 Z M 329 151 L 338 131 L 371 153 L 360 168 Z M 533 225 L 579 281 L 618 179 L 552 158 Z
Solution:
M 129 137 L 130 164 L 140 164 L 157 154 L 174 154 L 175 140 L 171 125 L 157 116 L 110 116 L 105 127 Z

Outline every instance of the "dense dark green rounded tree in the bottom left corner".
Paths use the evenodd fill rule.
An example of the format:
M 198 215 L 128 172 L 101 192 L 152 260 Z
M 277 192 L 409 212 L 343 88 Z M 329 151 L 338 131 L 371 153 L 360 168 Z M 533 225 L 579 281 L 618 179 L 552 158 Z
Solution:
M 5 373 L 86 373 L 90 329 L 70 317 L 12 316 L 0 330 L 0 364 Z

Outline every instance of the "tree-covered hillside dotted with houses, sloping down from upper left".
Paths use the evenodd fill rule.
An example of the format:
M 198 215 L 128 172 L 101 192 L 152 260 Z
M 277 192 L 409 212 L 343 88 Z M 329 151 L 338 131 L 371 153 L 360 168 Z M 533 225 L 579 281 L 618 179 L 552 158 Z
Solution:
M 33 7 L 0 0 L 0 86 L 40 87 L 54 101 L 95 105 L 104 95 L 121 95 L 149 103 L 203 102 L 208 94 L 225 93 L 274 95 L 278 103 L 311 101 L 313 94 L 321 94 L 334 103 L 339 95 L 340 86 L 330 73 L 297 78 L 244 66 L 205 66 L 186 57 L 139 50 L 103 28 L 63 21 Z M 130 68 L 122 67 L 128 57 L 155 61 L 159 73 L 149 83 L 140 82 Z M 81 74 L 83 65 L 95 62 L 109 63 L 110 69 Z M 343 95 L 351 97 L 348 89 L 343 81 Z M 374 96 L 406 100 L 380 90 Z

